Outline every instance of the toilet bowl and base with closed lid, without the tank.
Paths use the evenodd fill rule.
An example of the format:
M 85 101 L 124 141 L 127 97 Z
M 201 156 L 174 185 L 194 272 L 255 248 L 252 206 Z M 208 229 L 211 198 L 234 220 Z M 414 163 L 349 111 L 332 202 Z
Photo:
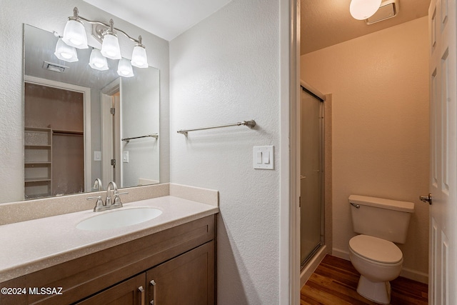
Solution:
M 389 304 L 389 281 L 400 275 L 403 265 L 403 254 L 398 246 L 374 236 L 358 235 L 349 241 L 349 256 L 354 268 L 361 274 L 358 294 L 380 304 Z

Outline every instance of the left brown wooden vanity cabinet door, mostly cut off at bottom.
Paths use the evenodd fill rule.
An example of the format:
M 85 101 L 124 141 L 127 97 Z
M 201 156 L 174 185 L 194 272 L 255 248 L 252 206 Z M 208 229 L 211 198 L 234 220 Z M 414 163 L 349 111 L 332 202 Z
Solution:
M 142 273 L 77 304 L 144 305 L 146 301 L 145 283 L 146 274 Z

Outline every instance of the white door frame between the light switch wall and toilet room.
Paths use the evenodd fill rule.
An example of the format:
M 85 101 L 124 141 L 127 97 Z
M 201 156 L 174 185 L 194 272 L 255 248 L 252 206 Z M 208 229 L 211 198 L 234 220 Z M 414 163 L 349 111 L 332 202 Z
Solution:
M 300 1 L 280 3 L 279 304 L 300 304 Z

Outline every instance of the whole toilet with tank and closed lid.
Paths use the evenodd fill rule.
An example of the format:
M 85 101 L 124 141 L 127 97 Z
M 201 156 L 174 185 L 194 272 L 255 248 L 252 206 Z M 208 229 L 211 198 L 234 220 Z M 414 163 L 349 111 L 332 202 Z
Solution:
M 412 202 L 368 196 L 349 196 L 354 232 L 349 241 L 349 256 L 361 274 L 357 292 L 380 304 L 390 304 L 389 281 L 400 275 L 403 253 L 395 243 L 404 244 Z

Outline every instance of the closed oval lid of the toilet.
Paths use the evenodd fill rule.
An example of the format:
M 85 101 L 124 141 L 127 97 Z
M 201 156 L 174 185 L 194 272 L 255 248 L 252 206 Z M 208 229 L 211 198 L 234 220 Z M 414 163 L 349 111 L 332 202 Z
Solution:
M 391 241 L 368 235 L 357 235 L 349 241 L 356 254 L 384 264 L 396 264 L 403 259 L 401 250 Z

